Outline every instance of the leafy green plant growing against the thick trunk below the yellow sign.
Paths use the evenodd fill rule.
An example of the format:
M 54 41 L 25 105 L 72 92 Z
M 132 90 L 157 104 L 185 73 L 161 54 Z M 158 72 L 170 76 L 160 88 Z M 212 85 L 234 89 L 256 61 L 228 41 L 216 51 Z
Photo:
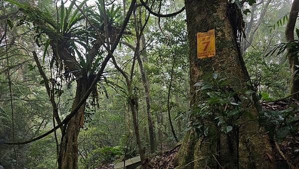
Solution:
M 253 90 L 249 87 L 234 90 L 230 86 L 231 81 L 220 79 L 217 73 L 213 74 L 213 79 L 212 83 L 195 84 L 196 92 L 200 92 L 203 101 L 199 105 L 193 105 L 189 117 L 200 120 L 189 121 L 185 129 L 195 130 L 198 137 L 203 137 L 209 143 L 211 153 L 207 155 L 206 161 L 218 156 L 221 135 L 235 136 L 236 143 L 239 143 L 239 128 L 247 121 L 257 120 L 249 110 L 253 104 Z

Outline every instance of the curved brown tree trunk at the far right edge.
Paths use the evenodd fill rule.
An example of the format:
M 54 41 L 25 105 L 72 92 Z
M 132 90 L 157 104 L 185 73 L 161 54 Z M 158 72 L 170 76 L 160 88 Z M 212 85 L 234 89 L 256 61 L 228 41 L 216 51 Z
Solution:
M 294 0 L 288 20 L 288 24 L 286 27 L 286 38 L 288 42 L 294 41 L 294 29 L 295 29 L 295 24 L 296 20 L 298 17 L 298 12 L 299 12 L 299 0 Z M 288 53 L 290 50 L 288 49 Z M 290 89 L 291 89 L 291 94 L 295 94 L 293 96 L 294 99 L 299 98 L 299 75 L 298 75 L 298 70 L 299 68 L 297 67 L 299 65 L 299 60 L 298 60 L 298 55 L 297 53 L 289 53 L 287 56 L 290 67 L 291 67 L 291 82 L 290 82 Z M 296 73 L 297 72 L 297 73 Z

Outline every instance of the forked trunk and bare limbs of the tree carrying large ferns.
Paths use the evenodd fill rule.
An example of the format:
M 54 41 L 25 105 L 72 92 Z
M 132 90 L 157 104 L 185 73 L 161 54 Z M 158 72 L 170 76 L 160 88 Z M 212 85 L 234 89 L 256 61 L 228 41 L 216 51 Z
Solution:
M 51 35 L 49 37 L 51 38 Z M 71 54 L 73 53 L 73 49 L 69 47 L 70 45 L 67 42 L 67 38 L 59 39 L 57 40 L 57 42 L 53 39 L 55 39 L 55 36 L 51 38 L 50 44 L 54 53 L 54 57 L 56 57 L 56 61 L 59 64 L 60 68 L 62 66 L 62 63 L 64 63 L 66 72 L 74 72 L 73 75 L 77 78 L 76 95 L 72 104 L 73 111 L 83 98 L 88 88 L 90 87 L 92 81 L 94 80 L 94 76 L 87 76 L 87 72 L 79 66 L 79 63 L 76 60 L 75 56 Z M 90 58 L 91 61 L 94 60 L 97 51 L 101 45 L 102 41 L 97 40 L 93 47 L 90 49 L 87 57 Z M 80 128 L 83 126 L 84 123 L 84 111 L 85 103 L 81 105 L 76 115 L 68 122 L 68 124 L 65 124 L 63 126 L 62 138 L 58 155 L 59 169 L 77 169 L 77 138 L 80 132 Z

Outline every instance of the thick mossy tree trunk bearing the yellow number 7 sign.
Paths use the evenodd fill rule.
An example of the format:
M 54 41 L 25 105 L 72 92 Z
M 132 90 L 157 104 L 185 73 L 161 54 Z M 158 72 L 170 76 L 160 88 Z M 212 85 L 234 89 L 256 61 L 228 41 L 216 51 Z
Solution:
M 212 82 L 212 74 L 217 72 L 220 77 L 231 80 L 234 91 L 246 87 L 249 75 L 237 44 L 236 30 L 228 18 L 231 11 L 228 0 L 186 0 L 186 17 L 189 41 L 190 59 L 190 95 L 192 105 L 201 104 L 205 96 L 196 92 L 194 86 L 199 81 Z M 229 10 L 230 9 L 230 10 Z M 238 16 L 238 15 L 237 15 Z M 233 18 L 236 19 L 236 18 Z M 197 58 L 196 33 L 215 29 L 216 56 L 204 59 Z M 257 108 L 250 107 L 250 113 L 257 117 Z M 238 135 L 220 136 L 218 148 L 220 157 L 211 158 L 208 162 L 207 156 L 211 153 L 209 144 L 205 138 L 198 137 L 197 131 L 192 129 L 184 137 L 183 144 L 175 158 L 175 166 L 181 169 L 204 169 L 223 168 L 227 169 L 270 169 L 272 164 L 266 158 L 265 153 L 271 152 L 268 139 L 257 134 L 260 131 L 257 121 L 249 121 L 239 129 Z M 191 117 L 196 120 L 196 117 Z M 232 133 L 232 132 L 231 132 Z M 238 150 L 239 149 L 239 150 Z M 270 153 L 271 154 L 271 153 Z M 216 156 L 216 155 L 215 155 Z M 216 160 L 217 159 L 217 160 Z M 218 163 L 220 165 L 218 165 Z

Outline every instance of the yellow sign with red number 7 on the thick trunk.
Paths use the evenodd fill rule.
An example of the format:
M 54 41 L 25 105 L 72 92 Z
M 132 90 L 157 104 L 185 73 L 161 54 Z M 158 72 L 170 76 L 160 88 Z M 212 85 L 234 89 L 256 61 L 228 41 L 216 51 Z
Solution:
M 197 58 L 213 57 L 215 49 L 215 29 L 197 33 Z

